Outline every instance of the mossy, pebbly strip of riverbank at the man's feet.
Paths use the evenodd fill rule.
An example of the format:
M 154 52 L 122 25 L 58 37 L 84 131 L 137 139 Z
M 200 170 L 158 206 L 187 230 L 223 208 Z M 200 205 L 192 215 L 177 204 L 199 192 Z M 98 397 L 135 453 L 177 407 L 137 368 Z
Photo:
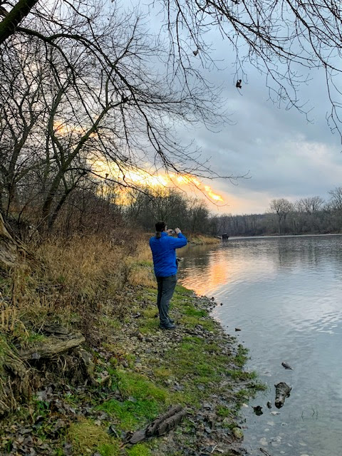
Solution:
M 33 403 L 2 420 L 1 454 L 247 454 L 239 408 L 262 385 L 243 369 L 244 348 L 209 315 L 214 301 L 177 286 L 170 311 L 177 328 L 162 331 L 154 289 L 130 289 L 128 299 L 124 318 L 104 312 L 94 319 L 99 386 L 72 385 L 46 371 Z M 184 410 L 181 423 L 161 437 L 128 443 L 172 405 Z

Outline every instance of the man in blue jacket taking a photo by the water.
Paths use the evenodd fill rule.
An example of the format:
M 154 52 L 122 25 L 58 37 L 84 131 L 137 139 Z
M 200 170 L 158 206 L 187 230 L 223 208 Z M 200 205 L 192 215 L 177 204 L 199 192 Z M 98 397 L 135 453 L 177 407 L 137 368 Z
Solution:
M 176 249 L 187 245 L 187 238 L 179 228 L 175 229 L 177 238 L 172 237 L 172 229 L 167 229 L 165 222 L 157 222 L 155 231 L 155 236 L 150 238 L 150 247 L 158 285 L 160 328 L 175 329 L 176 326 L 169 317 L 169 305 L 177 284 Z

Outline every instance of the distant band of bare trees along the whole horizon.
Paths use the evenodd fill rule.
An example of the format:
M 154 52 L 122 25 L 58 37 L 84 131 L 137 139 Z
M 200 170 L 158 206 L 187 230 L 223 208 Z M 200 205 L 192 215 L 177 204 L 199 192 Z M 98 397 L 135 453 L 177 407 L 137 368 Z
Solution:
M 28 187 L 29 190 L 29 187 Z M 70 193 L 58 211 L 53 225 L 44 223 L 41 205 L 30 192 L 16 193 L 15 204 L 2 194 L 1 212 L 22 238 L 39 234 L 110 234 L 135 228 L 153 232 L 155 221 L 180 227 L 189 234 L 219 236 L 258 236 L 264 234 L 324 234 L 342 231 L 342 187 L 329 192 L 330 198 L 307 197 L 290 202 L 273 199 L 265 214 L 212 214 L 205 199 L 189 197 L 177 189 L 140 188 L 125 192 L 113 182 L 84 179 Z M 119 229 L 118 229 L 119 228 Z

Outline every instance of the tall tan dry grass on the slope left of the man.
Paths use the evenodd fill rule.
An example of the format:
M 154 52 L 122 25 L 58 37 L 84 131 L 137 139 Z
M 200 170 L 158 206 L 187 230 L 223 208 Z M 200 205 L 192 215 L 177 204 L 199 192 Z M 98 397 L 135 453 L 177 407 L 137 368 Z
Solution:
M 48 240 L 36 247 L 34 261 L 17 266 L 1 289 L 2 331 L 25 339 L 44 323 L 89 326 L 90 314 L 125 313 L 127 286 L 155 286 L 148 242 L 121 237 L 120 242 L 99 237 Z M 23 323 L 24 322 L 24 323 Z M 19 331 L 20 328 L 20 331 Z M 26 333 L 25 333 L 26 331 Z M 91 328 L 88 328 L 91 332 Z

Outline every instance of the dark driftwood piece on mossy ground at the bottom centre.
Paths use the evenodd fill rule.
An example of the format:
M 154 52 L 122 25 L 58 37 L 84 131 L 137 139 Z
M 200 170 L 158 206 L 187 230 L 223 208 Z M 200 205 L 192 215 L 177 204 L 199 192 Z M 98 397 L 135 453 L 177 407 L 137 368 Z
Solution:
M 152 421 L 146 429 L 137 430 L 133 435 L 126 437 L 125 442 L 135 445 L 135 443 L 141 442 L 148 437 L 159 437 L 160 435 L 164 435 L 172 430 L 173 427 L 177 426 L 186 415 L 187 410 L 183 410 L 181 405 L 175 405 L 169 408 L 166 413 Z

